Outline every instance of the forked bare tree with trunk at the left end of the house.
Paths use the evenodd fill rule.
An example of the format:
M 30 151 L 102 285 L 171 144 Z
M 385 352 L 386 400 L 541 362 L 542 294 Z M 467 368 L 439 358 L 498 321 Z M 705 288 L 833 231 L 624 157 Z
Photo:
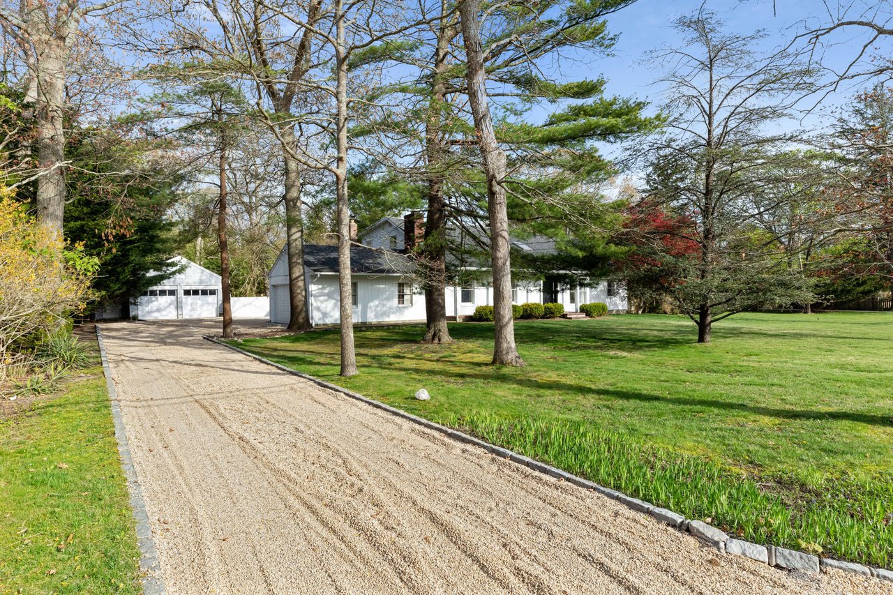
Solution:
M 213 28 L 205 26 L 208 15 Z M 185 7 L 167 2 L 154 6 L 146 16 L 167 22 L 171 47 L 160 43 L 156 31 L 150 29 L 141 44 L 144 50 L 228 63 L 230 71 L 226 75 L 243 85 L 246 94 L 254 95 L 255 116 L 279 141 L 285 166 L 283 204 L 291 312 L 288 330 L 309 329 L 301 211 L 305 170 L 313 159 L 305 155 L 306 147 L 296 132 L 302 118 L 292 112 L 298 104 L 302 104 L 302 113 L 305 109 L 313 111 L 313 102 L 320 95 L 319 91 L 308 93 L 313 81 L 305 78 L 319 67 L 312 54 L 321 0 L 306 4 L 289 0 L 199 0 Z

